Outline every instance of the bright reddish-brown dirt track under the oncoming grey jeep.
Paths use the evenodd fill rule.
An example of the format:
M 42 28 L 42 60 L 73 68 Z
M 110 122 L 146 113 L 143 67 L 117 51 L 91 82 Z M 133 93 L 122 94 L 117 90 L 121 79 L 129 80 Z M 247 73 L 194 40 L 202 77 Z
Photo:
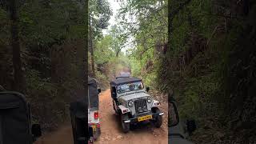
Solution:
M 118 117 L 114 114 L 110 90 L 102 92 L 99 96 L 99 114 L 102 134 L 95 142 L 96 144 L 167 144 L 167 110 L 168 105 L 162 102 L 161 110 L 165 113 L 161 128 L 155 128 L 149 123 L 142 124 L 130 130 L 129 133 L 122 133 L 122 127 Z

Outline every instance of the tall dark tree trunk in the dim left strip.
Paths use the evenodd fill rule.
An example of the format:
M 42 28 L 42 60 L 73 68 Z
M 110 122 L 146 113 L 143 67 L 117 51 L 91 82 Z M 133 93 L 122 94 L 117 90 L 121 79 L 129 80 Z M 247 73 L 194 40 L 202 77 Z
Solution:
M 18 10 L 16 0 L 10 0 L 10 32 L 13 47 L 14 90 L 25 92 L 25 78 L 22 72 L 22 59 L 18 39 Z

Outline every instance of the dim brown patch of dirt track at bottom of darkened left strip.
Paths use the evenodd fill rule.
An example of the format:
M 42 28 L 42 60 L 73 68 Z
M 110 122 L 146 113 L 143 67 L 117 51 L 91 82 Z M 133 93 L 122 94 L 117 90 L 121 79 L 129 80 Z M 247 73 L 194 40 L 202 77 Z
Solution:
M 34 144 L 73 144 L 73 134 L 71 124 L 64 125 L 58 130 L 43 135 L 41 138 L 38 138 L 38 141 Z

